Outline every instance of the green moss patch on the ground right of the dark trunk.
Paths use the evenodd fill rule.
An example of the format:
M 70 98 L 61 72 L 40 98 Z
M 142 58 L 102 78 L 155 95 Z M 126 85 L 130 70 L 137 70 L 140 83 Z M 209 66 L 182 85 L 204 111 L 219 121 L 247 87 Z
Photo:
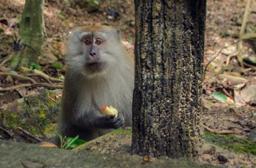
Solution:
M 234 149 L 235 151 L 241 153 L 246 152 L 248 154 L 256 155 L 256 144 L 245 140 L 243 138 L 236 137 L 234 135 L 220 135 L 205 133 L 205 140 L 208 143 L 212 143 L 216 146 Z

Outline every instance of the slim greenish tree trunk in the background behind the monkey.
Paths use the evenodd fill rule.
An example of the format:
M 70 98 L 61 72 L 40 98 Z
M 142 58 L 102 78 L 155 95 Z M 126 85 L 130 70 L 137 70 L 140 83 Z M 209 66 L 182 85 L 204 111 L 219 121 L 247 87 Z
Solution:
M 37 63 L 44 40 L 44 0 L 26 0 L 20 22 L 19 38 L 25 46 L 11 60 L 10 68 Z

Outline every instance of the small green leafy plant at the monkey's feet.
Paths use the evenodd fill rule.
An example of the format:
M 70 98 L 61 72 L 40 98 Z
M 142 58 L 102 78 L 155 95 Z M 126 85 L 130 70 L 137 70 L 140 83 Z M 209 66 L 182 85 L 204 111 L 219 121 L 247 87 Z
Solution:
M 60 132 L 57 131 L 57 134 L 61 140 L 61 145 L 59 145 L 58 148 L 61 148 L 61 149 L 73 149 L 73 148 L 85 143 L 84 140 L 78 139 L 79 135 L 77 135 L 74 138 L 66 137 L 66 136 L 63 138 Z

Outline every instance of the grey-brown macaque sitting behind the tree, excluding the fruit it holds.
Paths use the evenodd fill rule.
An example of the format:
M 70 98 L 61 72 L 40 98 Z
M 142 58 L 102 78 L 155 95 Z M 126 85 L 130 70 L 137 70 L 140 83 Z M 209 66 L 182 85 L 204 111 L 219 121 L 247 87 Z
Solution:
M 134 59 L 127 56 L 119 30 L 112 26 L 74 29 L 67 42 L 65 76 L 58 130 L 62 136 L 90 141 L 132 124 Z M 112 105 L 118 117 L 106 117 Z

